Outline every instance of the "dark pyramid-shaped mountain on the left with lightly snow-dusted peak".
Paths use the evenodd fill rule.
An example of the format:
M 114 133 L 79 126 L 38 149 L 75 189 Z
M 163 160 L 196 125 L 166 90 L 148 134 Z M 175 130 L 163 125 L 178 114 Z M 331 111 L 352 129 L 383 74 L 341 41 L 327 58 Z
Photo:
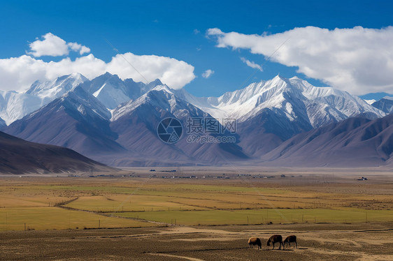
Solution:
M 77 86 L 27 116 L 4 132 L 31 142 L 67 147 L 80 154 L 124 152 L 109 127 L 110 112 L 97 98 Z

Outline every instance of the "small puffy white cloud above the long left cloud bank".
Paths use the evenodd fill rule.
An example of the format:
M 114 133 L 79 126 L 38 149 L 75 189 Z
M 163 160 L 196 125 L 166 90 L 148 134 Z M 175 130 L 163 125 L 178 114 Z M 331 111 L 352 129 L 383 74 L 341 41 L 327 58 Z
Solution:
M 42 36 L 43 40 L 36 39 L 33 43 L 29 44 L 31 54 L 34 57 L 52 56 L 58 57 L 68 55 L 69 51 L 79 52 L 84 54 L 90 52 L 90 48 L 79 43 L 66 43 L 65 40 L 55 36 L 53 33 L 46 33 Z

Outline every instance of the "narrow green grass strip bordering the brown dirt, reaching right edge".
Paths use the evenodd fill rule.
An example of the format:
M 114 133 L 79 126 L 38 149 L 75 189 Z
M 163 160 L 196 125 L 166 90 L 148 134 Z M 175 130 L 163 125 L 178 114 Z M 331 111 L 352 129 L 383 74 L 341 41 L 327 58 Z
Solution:
M 242 209 L 209 211 L 124 212 L 116 216 L 177 225 L 256 225 L 266 223 L 390 222 L 393 211 L 359 209 Z

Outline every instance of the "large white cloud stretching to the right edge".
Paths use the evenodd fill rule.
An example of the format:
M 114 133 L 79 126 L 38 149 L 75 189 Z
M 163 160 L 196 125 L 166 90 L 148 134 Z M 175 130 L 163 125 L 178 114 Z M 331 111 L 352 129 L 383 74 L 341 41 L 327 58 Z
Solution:
M 206 35 L 217 40 L 217 47 L 246 49 L 264 57 L 274 54 L 272 61 L 296 66 L 299 73 L 352 94 L 392 92 L 393 27 L 301 27 L 270 35 L 224 33 L 213 28 Z

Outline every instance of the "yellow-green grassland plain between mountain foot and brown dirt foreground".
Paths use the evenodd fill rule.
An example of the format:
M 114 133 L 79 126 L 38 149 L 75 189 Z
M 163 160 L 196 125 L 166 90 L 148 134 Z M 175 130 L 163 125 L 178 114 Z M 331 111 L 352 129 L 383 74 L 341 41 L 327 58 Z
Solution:
M 393 221 L 392 180 L 1 177 L 0 230 Z M 213 176 L 213 174 L 212 174 Z

